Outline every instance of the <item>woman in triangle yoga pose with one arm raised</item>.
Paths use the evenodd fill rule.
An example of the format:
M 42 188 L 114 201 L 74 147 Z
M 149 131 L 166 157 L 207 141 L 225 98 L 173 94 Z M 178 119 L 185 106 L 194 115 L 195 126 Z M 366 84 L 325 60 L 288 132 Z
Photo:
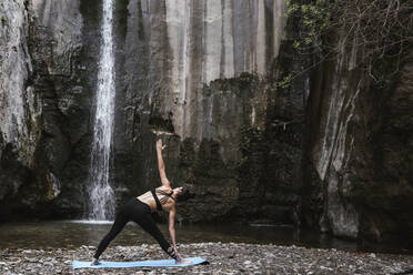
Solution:
M 189 192 L 185 187 L 171 189 L 171 183 L 167 179 L 165 165 L 162 159 L 162 150 L 164 147 L 165 146 L 162 146 L 162 140 L 159 140 L 157 142 L 158 169 L 162 186 L 131 198 L 127 204 L 119 208 L 112 228 L 100 242 L 98 249 L 94 253 L 92 265 L 99 264 L 99 256 L 130 221 L 139 224 L 145 232 L 154 237 L 161 245 L 162 249 L 174 258 L 178 264 L 190 263 L 178 254 L 174 228 L 177 214 L 175 201 L 179 200 L 181 202 L 188 200 Z M 151 216 L 151 213 L 155 211 L 169 212 L 169 233 L 171 235 L 172 246 L 164 238 Z

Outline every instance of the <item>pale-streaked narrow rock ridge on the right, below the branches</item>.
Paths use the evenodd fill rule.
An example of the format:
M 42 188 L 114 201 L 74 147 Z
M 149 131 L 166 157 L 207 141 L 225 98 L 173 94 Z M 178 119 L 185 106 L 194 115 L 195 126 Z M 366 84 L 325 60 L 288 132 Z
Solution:
M 321 216 L 323 231 L 336 235 L 356 237 L 359 234 L 359 212 L 352 201 L 352 177 L 362 176 L 364 171 L 349 170 L 355 163 L 351 157 L 363 154 L 354 150 L 359 139 L 360 146 L 365 145 L 365 136 L 357 135 L 365 114 L 357 113 L 357 103 L 367 90 L 362 72 L 352 70 L 347 59 L 325 65 L 324 70 L 334 71 L 324 79 L 325 88 L 315 88 L 311 95 L 312 116 L 319 116 L 311 125 L 314 140 L 311 144 L 311 156 L 316 173 L 323 182 L 324 205 Z M 320 92 L 322 94 L 316 94 Z M 320 109 L 322 111 L 320 111 Z M 369 115 L 369 114 L 367 114 Z M 363 132 L 362 132 L 363 133 Z M 366 161 L 362 157 L 362 161 Z M 356 175 L 359 174 L 359 175 Z

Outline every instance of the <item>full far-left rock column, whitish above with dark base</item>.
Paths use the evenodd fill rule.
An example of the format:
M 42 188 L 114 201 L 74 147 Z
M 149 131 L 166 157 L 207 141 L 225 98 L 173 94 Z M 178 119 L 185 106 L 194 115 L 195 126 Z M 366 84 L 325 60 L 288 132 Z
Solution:
M 0 3 L 0 201 L 6 205 L 13 205 L 33 180 L 29 167 L 40 136 L 41 105 L 29 84 L 29 18 L 24 1 Z M 31 204 L 29 197 L 26 204 Z M 3 205 L 1 220 L 10 214 Z

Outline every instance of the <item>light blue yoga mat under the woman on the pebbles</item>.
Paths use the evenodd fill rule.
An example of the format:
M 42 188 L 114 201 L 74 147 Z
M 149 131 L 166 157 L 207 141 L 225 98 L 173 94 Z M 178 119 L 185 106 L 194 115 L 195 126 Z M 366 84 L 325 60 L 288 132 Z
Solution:
M 100 265 L 90 265 L 91 262 L 73 261 L 73 269 L 77 268 L 127 268 L 127 267 L 179 267 L 208 263 L 201 257 L 185 258 L 190 264 L 175 264 L 174 259 L 157 259 L 141 262 L 100 262 Z

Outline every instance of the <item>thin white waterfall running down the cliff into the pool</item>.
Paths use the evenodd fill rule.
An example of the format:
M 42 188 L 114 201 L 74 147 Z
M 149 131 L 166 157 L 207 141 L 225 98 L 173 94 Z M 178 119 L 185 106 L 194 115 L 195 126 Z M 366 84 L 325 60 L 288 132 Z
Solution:
M 89 179 L 90 220 L 109 220 L 114 214 L 114 194 L 109 181 L 115 93 L 112 18 L 113 0 L 103 0 L 102 44 Z

